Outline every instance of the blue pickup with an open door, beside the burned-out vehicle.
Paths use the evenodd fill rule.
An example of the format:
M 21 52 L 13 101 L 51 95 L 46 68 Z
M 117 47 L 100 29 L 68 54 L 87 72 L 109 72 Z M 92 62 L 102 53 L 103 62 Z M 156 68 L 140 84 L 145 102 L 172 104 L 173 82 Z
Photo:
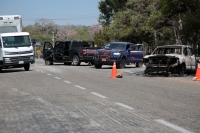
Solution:
M 127 64 L 134 63 L 136 67 L 143 65 L 144 45 L 129 42 L 110 42 L 104 48 L 96 50 L 94 54 L 94 67 L 113 65 L 118 69 L 125 68 Z

